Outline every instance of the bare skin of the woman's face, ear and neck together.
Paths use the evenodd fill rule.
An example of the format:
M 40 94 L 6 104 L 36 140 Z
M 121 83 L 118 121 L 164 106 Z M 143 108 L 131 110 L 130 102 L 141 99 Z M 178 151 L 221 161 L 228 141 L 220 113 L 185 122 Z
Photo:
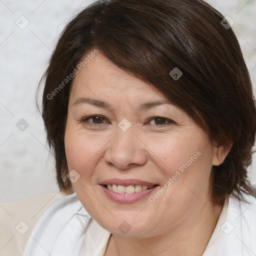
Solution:
M 105 101 L 111 109 L 74 104 L 79 97 Z M 68 170 L 80 175 L 73 189 L 87 212 L 112 233 L 104 255 L 202 255 L 222 209 L 209 199 L 210 170 L 228 149 L 210 144 L 172 104 L 138 111 L 152 100 L 166 97 L 100 52 L 81 68 L 72 81 L 64 138 Z M 94 114 L 103 119 L 81 122 Z M 123 118 L 131 124 L 126 131 L 118 126 Z M 117 203 L 99 185 L 108 178 L 136 178 L 163 186 L 197 151 L 200 156 L 154 202 L 146 196 Z M 118 228 L 123 221 L 130 226 L 126 234 Z

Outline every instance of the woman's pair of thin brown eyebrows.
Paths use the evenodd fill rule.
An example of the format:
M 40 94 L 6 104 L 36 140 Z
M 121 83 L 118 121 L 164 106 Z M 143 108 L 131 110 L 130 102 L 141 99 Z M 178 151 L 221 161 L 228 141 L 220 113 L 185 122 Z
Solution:
M 107 108 L 109 110 L 112 109 L 112 105 L 110 105 L 102 100 L 93 99 L 93 98 L 84 98 L 84 97 L 77 98 L 72 105 L 74 106 L 74 105 L 79 105 L 82 103 L 88 103 L 88 104 L 91 104 L 91 105 L 94 105 L 97 107 Z M 169 100 L 149 101 L 149 102 L 141 104 L 138 111 L 149 109 L 154 106 L 161 105 L 161 104 L 171 104 L 171 102 Z

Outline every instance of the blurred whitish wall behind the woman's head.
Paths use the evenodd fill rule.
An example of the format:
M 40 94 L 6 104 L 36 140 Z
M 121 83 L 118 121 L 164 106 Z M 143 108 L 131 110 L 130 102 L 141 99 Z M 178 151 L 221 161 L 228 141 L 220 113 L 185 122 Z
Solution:
M 0 202 L 58 191 L 35 94 L 59 33 L 92 2 L 0 0 Z M 255 87 L 256 1 L 206 2 L 234 21 Z M 256 183 L 255 156 L 248 171 Z

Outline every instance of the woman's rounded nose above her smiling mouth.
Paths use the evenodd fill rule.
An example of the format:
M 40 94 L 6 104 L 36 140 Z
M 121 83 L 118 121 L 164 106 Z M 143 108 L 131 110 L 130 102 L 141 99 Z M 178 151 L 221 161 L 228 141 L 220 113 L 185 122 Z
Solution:
M 104 161 L 117 169 L 128 170 L 146 163 L 146 148 L 132 127 L 126 131 L 117 128 L 116 134 L 107 143 Z

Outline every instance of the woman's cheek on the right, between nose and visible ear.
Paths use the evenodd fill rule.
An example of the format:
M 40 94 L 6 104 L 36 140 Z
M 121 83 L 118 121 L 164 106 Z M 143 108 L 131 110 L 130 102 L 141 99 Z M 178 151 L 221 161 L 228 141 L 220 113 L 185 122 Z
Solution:
M 148 140 L 153 148 L 152 158 L 168 187 L 179 188 L 186 184 L 193 190 L 205 189 L 211 170 L 212 148 L 207 138 L 197 132 L 175 134 L 161 139 Z M 200 186 L 202 184 L 202 186 Z

